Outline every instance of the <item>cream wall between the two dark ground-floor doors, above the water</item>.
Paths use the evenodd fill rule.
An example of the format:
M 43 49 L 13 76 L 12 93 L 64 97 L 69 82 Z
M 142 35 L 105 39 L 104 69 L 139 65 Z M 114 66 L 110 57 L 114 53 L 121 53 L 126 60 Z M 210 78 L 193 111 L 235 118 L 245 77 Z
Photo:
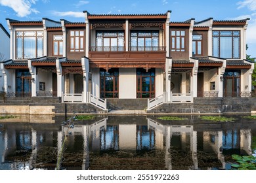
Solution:
M 136 68 L 119 69 L 119 99 L 136 99 Z

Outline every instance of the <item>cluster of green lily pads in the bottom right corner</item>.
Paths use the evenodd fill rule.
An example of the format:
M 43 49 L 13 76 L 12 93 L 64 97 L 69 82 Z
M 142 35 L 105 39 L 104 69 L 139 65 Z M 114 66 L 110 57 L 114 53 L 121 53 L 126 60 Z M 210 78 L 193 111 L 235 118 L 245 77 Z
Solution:
M 231 164 L 233 168 L 238 170 L 256 170 L 256 157 L 233 154 L 232 158 L 237 162 Z

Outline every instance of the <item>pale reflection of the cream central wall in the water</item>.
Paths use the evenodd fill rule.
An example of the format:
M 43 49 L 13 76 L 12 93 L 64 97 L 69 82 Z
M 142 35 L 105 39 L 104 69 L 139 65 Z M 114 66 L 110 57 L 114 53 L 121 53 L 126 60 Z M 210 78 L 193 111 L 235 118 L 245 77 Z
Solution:
M 129 133 L 127 133 L 129 131 Z M 119 149 L 136 150 L 137 147 L 136 124 L 119 125 Z

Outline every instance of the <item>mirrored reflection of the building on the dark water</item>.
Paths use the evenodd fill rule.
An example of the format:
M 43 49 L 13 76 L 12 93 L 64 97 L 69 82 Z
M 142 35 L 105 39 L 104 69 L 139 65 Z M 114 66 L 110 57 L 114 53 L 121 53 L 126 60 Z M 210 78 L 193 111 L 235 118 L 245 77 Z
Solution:
M 156 163 L 154 159 L 162 159 L 161 169 L 225 169 L 226 154 L 251 154 L 251 129 L 213 128 L 207 131 L 195 125 L 161 124 L 158 120 L 143 119 L 127 123 L 104 118 L 92 124 L 75 125 L 70 129 L 72 135 L 68 138 L 65 153 L 75 154 L 76 163 L 66 163 L 65 166 L 67 169 L 90 169 L 93 165 L 98 168 L 100 164 L 96 165 L 96 161 L 116 158 L 110 155 L 106 160 L 104 154 L 108 152 L 129 152 L 137 158 L 137 166 L 141 166 L 139 163 L 145 160 L 143 154 L 158 151 L 158 156 L 148 156 L 147 160 Z M 43 151 L 51 152 L 47 149 L 50 147 L 53 149 L 51 158 L 56 159 L 65 131 L 66 127 L 60 124 L 5 124 L 0 134 L 1 169 L 33 169 Z M 208 165 L 206 158 L 215 163 Z M 45 167 L 54 169 L 55 164 L 45 163 Z

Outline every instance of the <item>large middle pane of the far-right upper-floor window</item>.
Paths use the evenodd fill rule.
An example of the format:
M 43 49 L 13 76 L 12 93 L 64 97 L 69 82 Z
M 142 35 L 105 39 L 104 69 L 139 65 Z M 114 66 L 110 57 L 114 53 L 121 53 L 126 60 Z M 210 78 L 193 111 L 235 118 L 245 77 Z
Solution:
M 220 57 L 232 58 L 232 37 L 220 37 Z

